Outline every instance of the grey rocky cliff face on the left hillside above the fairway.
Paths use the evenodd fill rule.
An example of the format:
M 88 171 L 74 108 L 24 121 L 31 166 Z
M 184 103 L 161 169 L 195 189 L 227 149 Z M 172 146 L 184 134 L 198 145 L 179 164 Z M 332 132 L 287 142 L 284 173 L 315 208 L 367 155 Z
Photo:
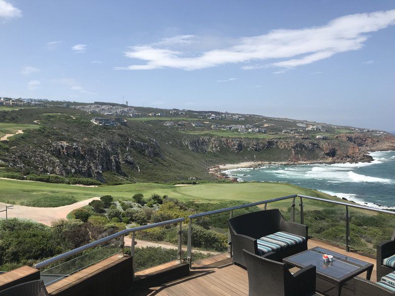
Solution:
M 140 172 L 140 167 L 134 160 L 137 153 L 149 158 L 164 159 L 158 142 L 152 138 L 148 138 L 146 142 L 130 138 L 125 141 L 96 139 L 93 143 L 83 140 L 55 141 L 42 145 L 40 149 L 24 152 L 11 150 L 11 161 L 8 164 L 21 169 L 29 166 L 44 174 L 76 174 L 105 182 L 103 172 L 112 171 L 124 175 L 123 164 Z

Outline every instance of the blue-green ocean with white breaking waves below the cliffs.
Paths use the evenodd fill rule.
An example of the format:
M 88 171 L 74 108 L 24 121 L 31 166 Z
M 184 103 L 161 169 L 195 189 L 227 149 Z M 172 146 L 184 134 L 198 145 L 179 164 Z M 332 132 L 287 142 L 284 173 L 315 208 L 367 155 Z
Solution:
M 365 206 L 395 209 L 395 151 L 369 154 L 374 159 L 370 163 L 265 165 L 224 172 L 239 181 L 287 182 Z

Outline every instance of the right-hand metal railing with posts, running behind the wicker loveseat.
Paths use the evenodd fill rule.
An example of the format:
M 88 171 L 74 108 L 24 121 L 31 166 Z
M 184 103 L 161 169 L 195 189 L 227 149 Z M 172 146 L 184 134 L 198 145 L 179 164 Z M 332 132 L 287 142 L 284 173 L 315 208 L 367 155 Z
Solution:
M 253 206 L 258 206 L 258 205 L 264 205 L 264 210 L 267 209 L 267 205 L 269 203 L 281 201 L 281 200 L 286 200 L 286 199 L 292 199 L 292 204 L 291 204 L 291 213 L 290 213 L 290 220 L 291 222 L 295 222 L 295 207 L 296 207 L 296 198 L 300 199 L 299 207 L 300 207 L 300 223 L 304 223 L 304 205 L 303 205 L 303 199 L 311 199 L 311 200 L 316 200 L 316 201 L 322 201 L 326 203 L 332 203 L 332 204 L 337 204 L 337 205 L 342 205 L 346 207 L 346 251 L 350 252 L 350 212 L 349 212 L 349 207 L 351 208 L 357 208 L 361 210 L 367 210 L 367 211 L 373 211 L 373 212 L 378 212 L 378 213 L 384 213 L 384 214 L 390 214 L 390 215 L 395 215 L 395 212 L 393 211 L 388 211 L 388 210 L 382 210 L 382 209 L 375 209 L 375 208 L 370 208 L 370 207 L 365 207 L 353 203 L 346 203 L 346 202 L 341 202 L 341 201 L 336 201 L 336 200 L 331 200 L 331 199 L 325 199 L 325 198 L 319 198 L 319 197 L 313 197 L 313 196 L 308 196 L 308 195 L 301 195 L 301 194 L 294 194 L 294 195 L 288 195 L 288 196 L 283 196 L 283 197 L 278 197 L 278 198 L 273 198 L 273 199 L 268 199 L 268 200 L 263 200 L 263 201 L 258 201 L 258 202 L 253 202 L 249 204 L 244 204 L 244 205 L 239 205 L 235 207 L 230 207 L 230 208 L 224 208 L 224 209 L 219 209 L 219 210 L 214 210 L 214 211 L 209 211 L 209 212 L 204 212 L 204 213 L 199 213 L 195 215 L 190 215 L 188 216 L 189 219 L 189 224 L 188 224 L 188 244 L 187 244 L 187 259 L 189 261 L 190 266 L 192 266 L 192 221 L 193 219 L 205 217 L 205 216 L 210 216 L 214 214 L 219 214 L 219 213 L 224 213 L 224 212 L 230 212 L 229 217 L 233 217 L 233 211 L 238 210 L 238 209 L 245 209 Z M 230 233 L 228 234 L 228 242 L 231 243 L 231 236 Z M 228 252 L 230 253 L 230 256 L 232 257 L 232 244 L 229 244 L 229 249 Z

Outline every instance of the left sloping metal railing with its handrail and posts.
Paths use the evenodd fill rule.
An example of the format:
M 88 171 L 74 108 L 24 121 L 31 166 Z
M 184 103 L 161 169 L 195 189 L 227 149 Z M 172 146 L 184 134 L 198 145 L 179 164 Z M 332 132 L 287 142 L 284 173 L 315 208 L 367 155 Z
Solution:
M 137 227 L 133 227 L 133 228 L 128 228 L 122 231 L 119 231 L 117 233 L 114 233 L 112 235 L 106 236 L 104 238 L 101 238 L 99 240 L 96 240 L 94 242 L 91 242 L 89 244 L 86 244 L 84 246 L 81 246 L 79 248 L 76 248 L 74 250 L 71 250 L 69 252 L 60 254 L 58 256 L 55 256 L 53 258 L 50 259 L 46 259 L 42 262 L 36 263 L 35 265 L 33 265 L 34 268 L 37 269 L 42 269 L 45 266 L 48 266 L 52 263 L 58 262 L 60 260 L 64 260 L 67 259 L 71 256 L 74 256 L 80 252 L 83 252 L 85 250 L 91 249 L 93 247 L 102 245 L 106 242 L 112 241 L 114 239 L 119 238 L 120 240 L 120 257 L 124 256 L 124 237 L 125 235 L 128 234 L 132 234 L 132 243 L 131 243 L 131 248 L 130 248 L 130 255 L 134 256 L 134 251 L 135 251 L 135 245 L 137 244 L 135 241 L 135 233 L 138 231 L 142 231 L 142 230 L 146 230 L 146 229 L 150 229 L 150 228 L 155 228 L 155 227 L 160 227 L 160 226 L 165 226 L 165 225 L 169 225 L 169 224 L 178 224 L 178 231 L 177 231 L 177 236 L 178 236 L 178 252 L 177 252 L 177 260 L 179 261 L 179 263 L 182 263 L 182 231 L 181 231 L 181 227 L 182 227 L 182 222 L 185 221 L 185 218 L 178 218 L 178 219 L 173 219 L 173 220 L 168 220 L 168 221 L 163 221 L 163 222 L 158 222 L 158 223 L 153 223 L 153 224 L 149 224 L 149 225 L 143 225 L 143 226 L 137 226 Z M 133 260 L 133 276 L 134 276 L 134 271 L 135 271 L 135 265 L 134 265 L 135 260 Z

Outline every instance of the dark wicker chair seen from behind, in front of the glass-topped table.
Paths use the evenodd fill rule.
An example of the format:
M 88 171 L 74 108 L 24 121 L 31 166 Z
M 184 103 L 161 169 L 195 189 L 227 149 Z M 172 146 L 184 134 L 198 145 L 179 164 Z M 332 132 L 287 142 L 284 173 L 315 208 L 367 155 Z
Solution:
M 243 250 L 249 296 L 311 296 L 316 294 L 316 266 L 291 274 L 282 263 Z

